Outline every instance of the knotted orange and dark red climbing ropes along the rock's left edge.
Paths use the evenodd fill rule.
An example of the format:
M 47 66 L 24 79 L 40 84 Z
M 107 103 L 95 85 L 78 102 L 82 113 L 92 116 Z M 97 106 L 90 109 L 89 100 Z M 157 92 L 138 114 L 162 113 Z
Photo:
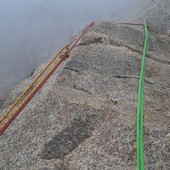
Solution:
M 49 77 L 55 72 L 55 70 L 59 67 L 59 65 L 69 57 L 70 52 L 73 48 L 75 48 L 78 41 L 82 38 L 82 36 L 88 31 L 88 29 L 94 24 L 91 23 L 85 30 L 83 30 L 82 34 L 75 39 L 73 42 L 69 44 L 69 46 L 63 47 L 50 62 L 47 63 L 45 68 L 36 76 L 36 78 L 27 86 L 24 92 L 16 99 L 13 105 L 5 112 L 5 114 L 0 118 L 0 135 L 7 129 L 7 127 L 12 123 L 12 121 L 17 117 L 17 115 L 24 109 L 24 107 L 29 103 L 29 101 L 34 97 L 34 95 L 40 90 L 40 88 L 45 84 L 45 82 L 49 79 Z M 63 53 L 63 51 L 66 51 Z M 55 63 L 55 60 L 60 55 L 59 60 Z M 53 64 L 53 66 L 52 66 Z M 51 67 L 51 68 L 50 68 Z M 49 71 L 45 74 L 47 69 Z M 44 78 L 41 78 L 45 74 Z M 40 82 L 37 82 L 41 78 Z M 37 83 L 35 85 L 35 83 Z M 35 87 L 33 87 L 35 85 Z M 30 93 L 29 90 L 32 91 Z M 28 94 L 27 94 L 28 93 Z M 27 96 L 26 96 L 27 94 Z M 24 98 L 25 96 L 25 98 Z M 13 111 L 13 112 L 12 112 Z M 12 112 L 12 113 L 11 113 Z M 10 114 L 11 113 L 11 114 Z

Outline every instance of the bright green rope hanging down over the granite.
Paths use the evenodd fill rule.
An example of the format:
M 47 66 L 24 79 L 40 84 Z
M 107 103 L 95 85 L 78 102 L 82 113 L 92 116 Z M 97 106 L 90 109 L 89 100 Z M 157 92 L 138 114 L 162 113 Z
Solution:
M 148 40 L 149 40 L 149 31 L 147 28 L 147 24 L 145 21 L 145 42 L 143 48 L 143 55 L 142 55 L 142 64 L 141 64 L 141 72 L 140 72 L 140 79 L 139 79 L 139 87 L 138 87 L 138 107 L 137 107 L 137 169 L 144 170 L 144 149 L 143 149 L 143 108 L 144 108 L 144 99 L 143 99 L 143 90 L 144 90 L 144 71 L 145 71 L 145 58 L 146 58 L 146 51 L 148 47 Z

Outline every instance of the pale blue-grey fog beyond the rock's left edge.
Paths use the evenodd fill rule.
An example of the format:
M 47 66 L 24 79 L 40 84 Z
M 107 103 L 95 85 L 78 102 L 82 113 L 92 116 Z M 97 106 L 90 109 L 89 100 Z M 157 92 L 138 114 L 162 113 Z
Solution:
M 92 21 L 117 21 L 129 0 L 0 0 L 0 95 Z

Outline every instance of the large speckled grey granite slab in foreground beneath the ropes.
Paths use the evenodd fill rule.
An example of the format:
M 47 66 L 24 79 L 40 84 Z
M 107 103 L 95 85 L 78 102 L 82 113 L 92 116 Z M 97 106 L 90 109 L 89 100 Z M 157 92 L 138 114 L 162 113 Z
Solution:
M 0 137 L 0 169 L 135 170 L 143 40 L 143 26 L 95 23 Z M 150 33 L 145 71 L 146 170 L 170 167 L 169 45 L 168 36 Z M 41 67 L 11 92 L 3 111 Z

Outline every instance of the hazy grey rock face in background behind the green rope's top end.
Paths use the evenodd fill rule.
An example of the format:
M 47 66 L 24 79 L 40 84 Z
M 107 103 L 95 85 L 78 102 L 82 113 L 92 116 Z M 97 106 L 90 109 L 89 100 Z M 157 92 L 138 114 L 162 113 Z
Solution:
M 120 21 L 143 23 L 147 20 L 150 30 L 170 36 L 169 0 L 131 0 L 129 6 Z

